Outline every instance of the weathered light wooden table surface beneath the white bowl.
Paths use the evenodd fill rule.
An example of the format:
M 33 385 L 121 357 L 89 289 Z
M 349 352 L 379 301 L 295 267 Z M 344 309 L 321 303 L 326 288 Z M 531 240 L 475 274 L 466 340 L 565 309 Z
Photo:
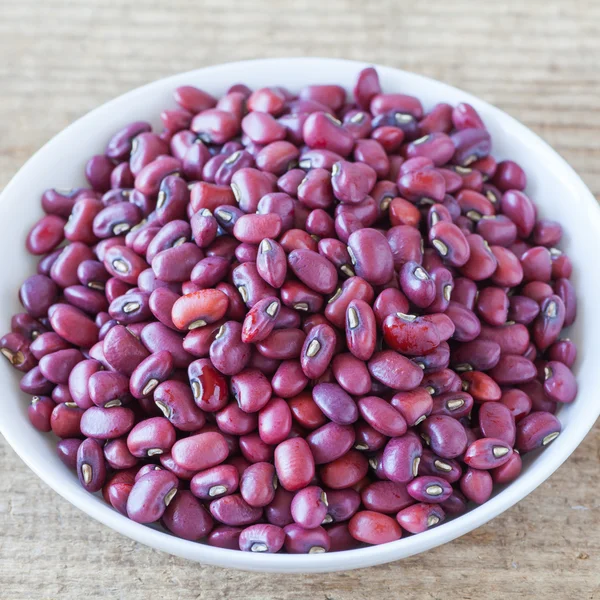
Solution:
M 0 0 L 0 186 L 54 134 L 129 89 L 209 64 L 302 55 L 462 87 L 539 133 L 600 195 L 594 0 Z M 600 598 L 599 458 L 596 426 L 528 498 L 426 554 L 261 575 L 122 537 L 51 491 L 0 438 L 0 598 Z

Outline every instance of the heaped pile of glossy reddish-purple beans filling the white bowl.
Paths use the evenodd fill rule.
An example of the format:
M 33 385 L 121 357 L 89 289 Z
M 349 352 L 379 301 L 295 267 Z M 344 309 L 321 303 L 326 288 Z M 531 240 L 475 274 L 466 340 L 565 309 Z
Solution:
M 214 546 L 344 550 L 485 502 L 559 435 L 571 263 L 470 105 L 370 68 L 351 102 L 175 101 L 43 194 L 0 341 L 85 489 Z

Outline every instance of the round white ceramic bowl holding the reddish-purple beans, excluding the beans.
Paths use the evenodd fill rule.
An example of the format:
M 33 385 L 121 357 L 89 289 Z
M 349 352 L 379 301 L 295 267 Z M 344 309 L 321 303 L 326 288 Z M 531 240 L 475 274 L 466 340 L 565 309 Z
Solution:
M 15 175 L 0 196 L 0 289 L 1 329 L 8 330 L 10 317 L 19 312 L 17 290 L 35 272 L 36 261 L 25 251 L 25 236 L 41 216 L 40 195 L 50 187 L 83 185 L 84 164 L 102 152 L 111 134 L 134 120 L 159 125 L 158 115 L 173 105 L 172 91 L 195 84 L 222 94 L 231 84 L 244 82 L 252 88 L 283 85 L 298 90 L 309 83 L 338 83 L 352 89 L 364 64 L 334 59 L 268 59 L 230 63 L 161 79 L 100 106 L 58 134 Z M 28 398 L 19 391 L 19 374 L 2 361 L 3 409 L 0 431 L 25 463 L 49 486 L 91 517 L 130 538 L 153 548 L 211 565 L 256 571 L 319 572 L 367 567 L 438 546 L 480 525 L 513 506 L 546 480 L 573 452 L 600 413 L 598 340 L 600 340 L 600 282 L 596 261 L 600 256 L 600 210 L 596 200 L 569 165 L 544 141 L 507 114 L 444 83 L 389 67 L 377 67 L 383 89 L 419 97 L 425 108 L 437 102 L 469 102 L 483 117 L 492 134 L 493 154 L 512 158 L 527 173 L 527 193 L 545 217 L 559 221 L 565 236 L 561 247 L 575 265 L 573 281 L 579 299 L 579 316 L 570 337 L 577 342 L 576 373 L 579 397 L 561 407 L 563 432 L 543 452 L 525 456 L 521 476 L 498 491 L 484 505 L 417 536 L 383 546 L 318 555 L 264 555 L 212 548 L 178 539 L 125 518 L 104 501 L 88 494 L 58 459 L 56 440 L 38 433 L 27 418 Z M 585 274 L 585 276 L 583 276 Z M 585 332 L 585 334 L 584 334 Z M 43 523 L 40 523 L 43 526 Z

